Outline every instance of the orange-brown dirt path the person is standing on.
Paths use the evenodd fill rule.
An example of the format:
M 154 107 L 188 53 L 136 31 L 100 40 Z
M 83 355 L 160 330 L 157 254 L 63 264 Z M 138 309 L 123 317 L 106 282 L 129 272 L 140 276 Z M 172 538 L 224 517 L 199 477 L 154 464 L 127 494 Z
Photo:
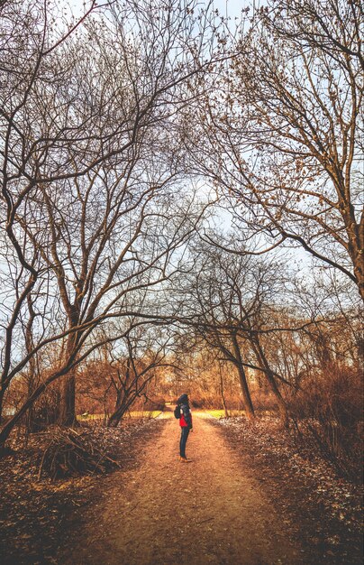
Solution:
M 90 516 L 75 565 L 250 565 L 300 563 L 274 508 L 241 461 L 202 415 L 178 460 L 172 413 L 141 455 L 141 467 L 115 473 L 107 500 Z

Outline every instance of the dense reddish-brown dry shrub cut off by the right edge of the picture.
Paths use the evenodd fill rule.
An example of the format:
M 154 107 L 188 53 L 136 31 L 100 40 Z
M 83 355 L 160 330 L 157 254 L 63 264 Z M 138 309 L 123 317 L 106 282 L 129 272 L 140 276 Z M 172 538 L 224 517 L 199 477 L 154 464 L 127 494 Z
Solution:
M 297 437 L 309 440 L 341 475 L 361 479 L 362 383 L 352 367 L 327 366 L 290 404 Z

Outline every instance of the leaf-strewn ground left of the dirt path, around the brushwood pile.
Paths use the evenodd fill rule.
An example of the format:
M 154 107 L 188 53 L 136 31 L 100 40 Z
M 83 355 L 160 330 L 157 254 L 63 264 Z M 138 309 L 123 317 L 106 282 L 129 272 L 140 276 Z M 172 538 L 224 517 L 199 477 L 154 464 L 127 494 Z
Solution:
M 2 565 L 57 563 L 54 556 L 59 548 L 72 543 L 72 535 L 82 535 L 83 509 L 97 505 L 106 478 L 100 471 L 137 467 L 140 449 L 163 423 L 152 419 L 125 420 L 120 427 L 112 429 L 97 422 L 84 422 L 77 428 L 77 434 L 92 441 L 100 457 L 107 457 L 109 465 L 96 468 L 86 476 L 56 481 L 44 471 L 40 476 L 43 453 L 50 445 L 52 430 L 31 434 L 25 448 L 21 432 L 14 435 L 13 452 L 0 459 Z

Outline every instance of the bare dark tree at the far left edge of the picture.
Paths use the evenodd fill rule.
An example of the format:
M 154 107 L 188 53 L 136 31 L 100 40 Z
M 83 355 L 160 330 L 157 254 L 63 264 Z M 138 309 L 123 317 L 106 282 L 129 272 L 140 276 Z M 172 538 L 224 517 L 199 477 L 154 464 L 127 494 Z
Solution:
M 8 309 L 4 321 L 4 348 L 2 351 L 3 375 L 0 403 L 6 388 L 6 377 L 12 366 L 12 349 L 19 354 L 19 332 L 16 325 L 22 318 L 23 309 L 30 318 L 25 322 L 26 347 L 31 347 L 32 320 L 35 317 L 32 305 L 40 285 L 37 279 L 41 272 L 40 256 L 32 249 L 29 238 L 19 226 L 18 217 L 26 213 L 25 200 L 32 193 L 40 176 L 48 153 L 52 153 L 53 164 L 59 139 L 72 138 L 75 124 L 67 125 L 53 112 L 46 102 L 40 104 L 42 93 L 59 92 L 69 83 L 69 67 L 72 61 L 61 64 L 60 52 L 65 54 L 68 36 L 76 32 L 96 3 L 88 3 L 89 9 L 78 20 L 60 24 L 57 31 L 48 24 L 48 5 L 35 2 L 9 2 L 1 5 L 2 25 L 2 110 L 0 127 L 2 149 L 2 243 L 5 247 L 5 282 L 13 277 L 14 298 L 5 292 Z M 54 14 L 53 14 L 54 15 Z M 59 22 L 60 23 L 60 22 Z M 61 101 L 59 100 L 59 106 Z M 42 126 L 41 126 L 41 123 Z M 60 153 L 59 153 L 60 160 Z M 47 168 L 47 167 L 46 167 Z M 57 169 L 57 165 L 55 165 Z M 33 218 L 27 218 L 32 223 Z M 3 239 L 3 236 L 5 239 Z M 5 289 L 9 287 L 5 283 Z M 15 342 L 15 343 L 14 343 Z

